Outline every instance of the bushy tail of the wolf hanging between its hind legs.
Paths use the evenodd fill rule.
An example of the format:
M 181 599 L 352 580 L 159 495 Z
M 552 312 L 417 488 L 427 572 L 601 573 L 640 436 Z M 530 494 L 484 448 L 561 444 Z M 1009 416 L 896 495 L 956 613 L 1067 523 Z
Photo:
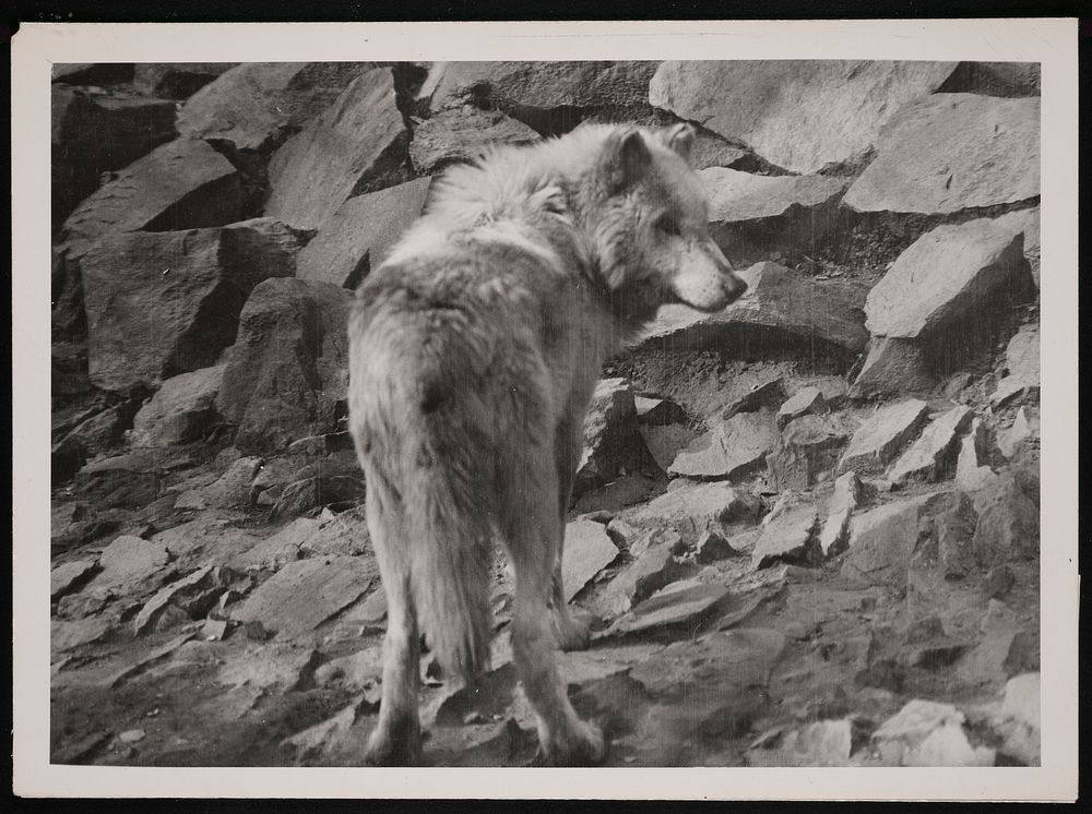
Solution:
M 416 474 L 405 542 L 417 619 L 444 673 L 470 682 L 489 667 L 488 530 L 482 507 L 443 464 Z

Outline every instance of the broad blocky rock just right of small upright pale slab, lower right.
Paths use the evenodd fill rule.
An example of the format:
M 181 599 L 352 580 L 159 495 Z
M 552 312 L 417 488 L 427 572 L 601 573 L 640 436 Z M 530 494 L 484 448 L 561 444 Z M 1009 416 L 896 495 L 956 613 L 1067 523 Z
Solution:
M 960 492 L 888 503 L 851 518 L 841 573 L 854 582 L 904 586 L 915 553 L 958 573 L 973 529 L 974 510 Z

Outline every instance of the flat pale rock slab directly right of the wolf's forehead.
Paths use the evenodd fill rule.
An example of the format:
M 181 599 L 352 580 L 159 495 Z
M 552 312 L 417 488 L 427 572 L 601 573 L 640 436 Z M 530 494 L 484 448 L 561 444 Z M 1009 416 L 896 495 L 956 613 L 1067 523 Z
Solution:
M 710 167 L 699 170 L 713 205 L 711 224 L 740 224 L 780 217 L 794 210 L 832 203 L 848 181 L 830 176 L 756 176 Z

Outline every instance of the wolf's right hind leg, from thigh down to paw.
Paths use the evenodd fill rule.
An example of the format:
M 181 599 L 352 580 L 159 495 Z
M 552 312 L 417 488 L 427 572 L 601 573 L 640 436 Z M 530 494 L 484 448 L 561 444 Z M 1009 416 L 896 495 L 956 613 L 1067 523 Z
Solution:
M 549 481 L 553 486 L 554 478 Z M 556 638 L 549 604 L 560 540 L 557 504 L 549 489 L 536 488 L 545 484 L 527 486 L 517 492 L 525 495 L 525 502 L 508 519 L 505 534 L 515 568 L 512 655 L 538 719 L 538 743 L 546 763 L 592 765 L 606 754 L 603 733 L 577 716 L 554 656 Z

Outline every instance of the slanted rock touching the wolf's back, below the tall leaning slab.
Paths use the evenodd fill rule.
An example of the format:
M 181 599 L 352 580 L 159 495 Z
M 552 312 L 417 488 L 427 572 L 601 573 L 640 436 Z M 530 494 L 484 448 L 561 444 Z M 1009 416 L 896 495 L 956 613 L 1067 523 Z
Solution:
M 430 183 L 417 178 L 345 201 L 300 252 L 299 278 L 356 289 L 420 215 Z

